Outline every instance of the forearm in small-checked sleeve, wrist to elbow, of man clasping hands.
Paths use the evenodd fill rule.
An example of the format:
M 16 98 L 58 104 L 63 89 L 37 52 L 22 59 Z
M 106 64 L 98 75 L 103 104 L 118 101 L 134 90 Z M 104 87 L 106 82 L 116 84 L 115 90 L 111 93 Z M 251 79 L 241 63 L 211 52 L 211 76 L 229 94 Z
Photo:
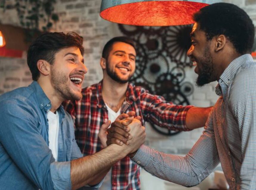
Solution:
M 146 157 L 151 158 L 144 160 Z M 152 175 L 182 186 L 195 186 L 201 181 L 186 157 L 161 153 L 142 145 L 132 160 Z

